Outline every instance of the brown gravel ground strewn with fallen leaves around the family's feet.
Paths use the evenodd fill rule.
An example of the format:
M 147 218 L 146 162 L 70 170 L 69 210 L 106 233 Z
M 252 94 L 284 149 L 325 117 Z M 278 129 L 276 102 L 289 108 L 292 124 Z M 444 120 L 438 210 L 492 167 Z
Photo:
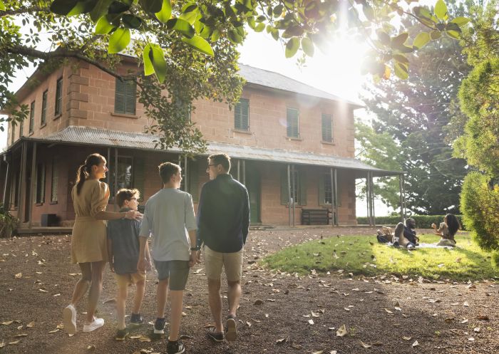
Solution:
M 347 271 L 298 278 L 265 271 L 258 264 L 265 254 L 284 246 L 349 234 L 374 235 L 374 230 L 252 231 L 245 248 L 240 338 L 235 343 L 215 344 L 205 335 L 205 326 L 211 323 L 206 277 L 202 264 L 195 267 L 187 283 L 181 326 L 186 353 L 499 353 L 496 283 L 428 282 L 389 275 L 350 278 Z M 4 345 L 0 353 L 165 352 L 164 339 L 113 340 L 115 283 L 108 269 L 99 306 L 106 326 L 72 338 L 63 330 L 53 332 L 78 277 L 69 249 L 68 236 L 0 240 L 0 323 L 16 321 L 0 324 L 0 346 Z M 155 315 L 155 280 L 151 274 L 143 303 L 148 321 Z M 257 300 L 262 304 L 255 305 Z M 85 311 L 85 303 L 79 304 L 78 311 Z M 80 314 L 79 329 L 82 318 Z M 336 336 L 342 325 L 347 334 Z M 132 335 L 150 336 L 150 329 L 146 325 Z M 367 345 L 372 346 L 364 348 Z

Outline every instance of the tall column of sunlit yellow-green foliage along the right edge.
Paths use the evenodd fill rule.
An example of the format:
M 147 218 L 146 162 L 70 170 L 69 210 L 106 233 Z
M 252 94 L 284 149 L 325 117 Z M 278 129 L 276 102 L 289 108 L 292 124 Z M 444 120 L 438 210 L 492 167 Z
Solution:
M 475 8 L 479 20 L 463 37 L 473 70 L 459 89 L 461 110 L 468 117 L 454 153 L 465 157 L 473 172 L 461 194 L 464 223 L 478 244 L 499 251 L 499 1 Z M 499 264 L 499 252 L 495 254 Z

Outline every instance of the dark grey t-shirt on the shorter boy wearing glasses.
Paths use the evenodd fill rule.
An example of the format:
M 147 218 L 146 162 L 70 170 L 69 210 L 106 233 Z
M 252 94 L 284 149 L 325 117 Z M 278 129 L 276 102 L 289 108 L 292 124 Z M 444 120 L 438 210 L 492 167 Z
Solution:
M 121 209 L 122 212 L 130 209 Z M 113 241 L 114 271 L 116 274 L 137 272 L 140 222 L 117 219 L 108 221 L 108 239 Z

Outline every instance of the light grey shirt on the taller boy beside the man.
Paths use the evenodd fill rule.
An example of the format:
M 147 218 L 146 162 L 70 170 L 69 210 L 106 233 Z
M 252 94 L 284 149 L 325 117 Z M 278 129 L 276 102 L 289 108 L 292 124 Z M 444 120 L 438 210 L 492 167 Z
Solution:
M 140 236 L 153 236 L 151 254 L 155 261 L 188 261 L 190 241 L 187 231 L 196 229 L 189 193 L 165 188 L 145 203 Z

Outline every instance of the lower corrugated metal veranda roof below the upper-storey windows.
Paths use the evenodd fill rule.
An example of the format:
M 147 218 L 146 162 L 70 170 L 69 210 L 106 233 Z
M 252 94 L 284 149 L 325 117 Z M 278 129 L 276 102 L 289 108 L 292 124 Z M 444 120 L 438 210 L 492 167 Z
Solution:
M 27 138 L 31 140 L 31 138 Z M 127 147 L 132 149 L 156 150 L 154 140 L 156 135 L 139 132 L 119 132 L 103 130 L 94 127 L 69 126 L 56 134 L 34 139 L 45 142 L 66 142 L 86 145 L 100 145 L 110 147 Z M 171 148 L 168 152 L 181 152 L 178 148 Z M 265 149 L 262 147 L 227 144 L 225 142 L 210 142 L 207 155 L 225 153 L 235 159 L 258 160 L 267 162 L 282 162 L 297 165 L 316 165 L 336 167 L 347 170 L 373 171 L 375 177 L 398 175 L 401 172 L 380 170 L 349 157 L 321 155 L 312 152 L 299 152 L 282 149 Z

